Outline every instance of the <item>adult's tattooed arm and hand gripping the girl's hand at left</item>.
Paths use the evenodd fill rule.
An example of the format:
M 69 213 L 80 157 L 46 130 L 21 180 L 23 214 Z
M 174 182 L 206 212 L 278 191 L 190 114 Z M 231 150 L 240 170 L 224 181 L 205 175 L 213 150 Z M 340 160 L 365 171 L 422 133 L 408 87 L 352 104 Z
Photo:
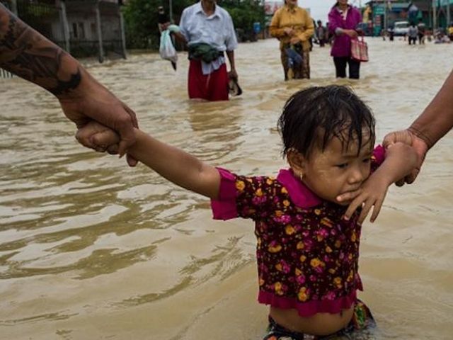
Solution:
M 2 4 L 0 67 L 54 94 L 64 114 L 77 128 L 96 120 L 117 131 L 121 136 L 121 155 L 135 142 L 133 128 L 137 127 L 137 118 L 134 111 L 91 77 L 74 57 L 23 23 Z M 92 149 L 100 148 L 90 138 L 79 142 Z M 131 158 L 128 162 L 136 164 Z

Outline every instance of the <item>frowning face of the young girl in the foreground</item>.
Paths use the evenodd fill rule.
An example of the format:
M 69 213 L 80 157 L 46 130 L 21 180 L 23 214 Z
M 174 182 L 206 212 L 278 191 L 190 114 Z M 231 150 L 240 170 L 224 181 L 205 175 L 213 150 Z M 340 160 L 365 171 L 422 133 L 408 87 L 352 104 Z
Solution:
M 344 149 L 341 140 L 333 137 L 324 151 L 316 147 L 309 159 L 297 153 L 288 157 L 289 164 L 295 174 L 303 175 L 302 182 L 317 196 L 338 203 L 338 195 L 357 190 L 369 177 L 372 143 L 367 139 L 363 136 L 365 145 L 359 150 L 358 142 L 350 142 L 348 149 Z

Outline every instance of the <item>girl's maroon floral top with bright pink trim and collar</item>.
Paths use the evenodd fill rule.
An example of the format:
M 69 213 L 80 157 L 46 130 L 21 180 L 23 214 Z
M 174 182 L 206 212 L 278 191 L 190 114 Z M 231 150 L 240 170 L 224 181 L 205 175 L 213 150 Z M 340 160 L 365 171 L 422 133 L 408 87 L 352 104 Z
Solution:
M 379 146 L 372 171 L 383 160 Z M 294 308 L 302 317 L 338 313 L 355 303 L 357 289 L 362 290 L 358 213 L 343 220 L 346 207 L 321 200 L 291 170 L 280 170 L 276 179 L 218 170 L 214 219 L 255 221 L 260 303 Z

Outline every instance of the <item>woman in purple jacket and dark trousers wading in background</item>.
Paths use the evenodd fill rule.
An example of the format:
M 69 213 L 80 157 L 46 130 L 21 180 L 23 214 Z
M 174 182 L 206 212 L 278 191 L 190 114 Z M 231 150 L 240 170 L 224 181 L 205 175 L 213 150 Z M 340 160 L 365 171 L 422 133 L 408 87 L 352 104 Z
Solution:
M 362 14 L 348 0 L 338 0 L 328 13 L 328 30 L 335 35 L 331 56 L 337 78 L 346 77 L 347 64 L 350 79 L 360 78 L 360 62 L 351 57 L 351 40 L 357 39 L 357 26 L 361 22 Z

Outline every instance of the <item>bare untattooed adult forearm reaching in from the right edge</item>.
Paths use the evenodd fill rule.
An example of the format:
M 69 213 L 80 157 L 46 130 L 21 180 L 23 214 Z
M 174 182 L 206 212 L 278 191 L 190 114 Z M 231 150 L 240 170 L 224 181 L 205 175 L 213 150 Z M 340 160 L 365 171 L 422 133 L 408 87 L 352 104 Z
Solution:
M 453 72 L 449 74 L 440 91 L 412 123 L 409 130 L 423 139 L 430 148 L 452 128 Z

